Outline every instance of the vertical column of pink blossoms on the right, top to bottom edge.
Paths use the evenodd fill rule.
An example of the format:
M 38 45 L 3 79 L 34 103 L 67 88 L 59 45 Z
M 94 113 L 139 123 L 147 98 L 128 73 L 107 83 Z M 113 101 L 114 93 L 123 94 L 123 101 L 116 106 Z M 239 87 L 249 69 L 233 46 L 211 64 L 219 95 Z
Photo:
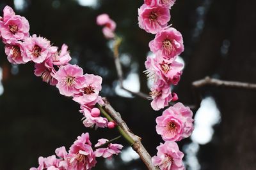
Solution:
M 156 34 L 150 41 L 149 48 L 153 55 L 145 62 L 147 77 L 153 80 L 150 88 L 151 106 L 160 110 L 168 106 L 171 101 L 177 101 L 177 94 L 171 90 L 177 85 L 182 74 L 183 65 L 177 62 L 177 57 L 184 51 L 183 38 L 177 29 L 168 26 L 170 9 L 175 0 L 144 0 L 138 9 L 138 24 L 148 33 Z M 163 111 L 163 115 L 156 118 L 156 131 L 164 140 L 157 146 L 157 155 L 152 157 L 154 166 L 163 170 L 182 170 L 184 154 L 180 152 L 176 141 L 188 138 L 193 127 L 193 113 L 182 103 L 177 103 Z

